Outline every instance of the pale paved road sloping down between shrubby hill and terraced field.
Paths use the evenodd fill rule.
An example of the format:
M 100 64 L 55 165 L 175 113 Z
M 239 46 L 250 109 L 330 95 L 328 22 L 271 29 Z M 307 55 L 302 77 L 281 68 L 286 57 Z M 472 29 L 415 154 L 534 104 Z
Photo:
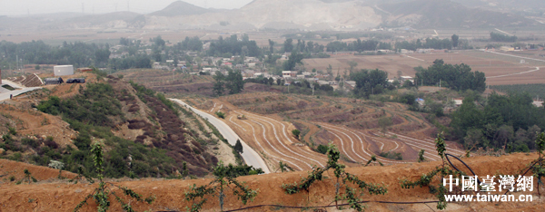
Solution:
M 236 140 L 241 140 L 241 143 L 243 144 L 243 159 L 249 166 L 253 166 L 254 168 L 258 169 L 261 168 L 265 172 L 265 174 L 271 173 L 269 168 L 267 168 L 267 165 L 265 164 L 265 161 L 259 156 L 259 154 L 253 150 L 250 146 L 248 146 L 234 131 L 231 129 L 225 122 L 222 120 L 219 120 L 215 118 L 213 115 L 208 114 L 203 111 L 199 111 L 197 109 L 194 109 L 190 105 L 186 104 L 185 102 L 181 100 L 176 99 L 170 99 L 171 101 L 174 101 L 176 103 L 179 103 L 183 106 L 187 106 L 191 110 L 193 110 L 195 113 L 199 114 L 201 117 L 208 119 L 210 123 L 215 126 L 220 133 L 222 133 L 223 138 L 229 141 L 231 145 L 234 145 L 236 143 Z

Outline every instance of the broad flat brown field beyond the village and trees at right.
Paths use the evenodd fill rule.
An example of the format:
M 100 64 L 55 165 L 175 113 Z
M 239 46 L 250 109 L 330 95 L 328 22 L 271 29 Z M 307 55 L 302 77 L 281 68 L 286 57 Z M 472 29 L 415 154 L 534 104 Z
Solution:
M 535 52 L 539 53 L 539 52 Z M 358 63 L 357 69 L 381 69 L 390 73 L 389 78 L 402 75 L 414 76 L 414 67 L 430 66 L 436 59 L 445 63 L 465 63 L 472 71 L 484 72 L 487 84 L 520 84 L 545 82 L 545 58 L 522 53 L 485 53 L 481 51 L 456 51 L 454 53 L 410 53 L 406 55 L 333 55 L 331 58 L 305 59 L 307 70 L 317 69 L 325 72 L 332 65 L 332 72 L 343 74 L 350 66 L 348 62 Z M 524 60 L 524 63 L 520 63 Z M 540 70 L 537 70 L 540 67 Z

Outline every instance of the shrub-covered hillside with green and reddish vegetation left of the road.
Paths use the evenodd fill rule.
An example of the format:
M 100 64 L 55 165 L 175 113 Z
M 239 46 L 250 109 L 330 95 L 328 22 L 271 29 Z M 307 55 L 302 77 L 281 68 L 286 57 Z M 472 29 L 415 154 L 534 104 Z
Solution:
M 83 168 L 93 175 L 90 145 L 104 141 L 109 178 L 176 177 L 184 167 L 190 175 L 204 176 L 218 163 L 219 151 L 226 151 L 223 160 L 234 163 L 233 149 L 205 120 L 160 93 L 111 76 L 87 84 L 72 98 L 51 96 L 36 108 L 61 116 L 77 133 L 73 143 L 59 145 L 57 138 L 19 135 L 9 128 L 0 142 L 3 158 L 42 166 L 54 159 L 65 170 Z

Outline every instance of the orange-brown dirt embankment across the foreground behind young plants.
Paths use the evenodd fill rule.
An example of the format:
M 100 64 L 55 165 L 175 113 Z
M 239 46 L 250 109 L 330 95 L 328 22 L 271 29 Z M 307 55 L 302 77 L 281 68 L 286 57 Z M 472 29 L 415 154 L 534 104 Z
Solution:
M 478 176 L 520 174 L 520 170 L 530 164 L 533 159 L 537 159 L 537 154 L 518 153 L 509 156 L 496 157 L 476 157 L 464 159 Z M 422 174 L 431 171 L 441 162 L 430 163 L 411 163 L 400 164 L 390 167 L 367 167 L 367 168 L 349 168 L 347 172 L 356 175 L 368 183 L 382 183 L 388 188 L 388 193 L 383 196 L 370 196 L 367 192 L 362 197 L 363 200 L 371 201 L 431 201 L 436 200 L 431 195 L 428 188 L 405 189 L 400 186 L 401 178 L 416 180 Z M 527 174 L 530 175 L 531 173 Z M 263 204 L 273 204 L 282 206 L 327 206 L 332 204 L 334 199 L 334 176 L 333 173 L 327 173 L 323 181 L 312 185 L 309 193 L 301 192 L 295 195 L 287 195 L 283 192 L 281 186 L 285 183 L 299 181 L 307 175 L 306 172 L 275 173 L 262 176 L 246 176 L 238 178 L 245 181 L 246 185 L 253 189 L 259 189 L 257 198 L 249 202 L 248 206 Z M 148 196 L 154 195 L 155 202 L 152 205 L 132 202 L 132 206 L 138 211 L 144 210 L 180 210 L 183 211 L 190 203 L 183 200 L 184 191 L 190 185 L 204 185 L 211 179 L 192 179 L 192 180 L 157 180 L 154 178 L 114 182 L 116 185 L 133 188 L 136 192 Z M 433 180 L 437 185 L 439 178 Z M 534 186 L 537 179 L 534 179 Z M 97 184 L 83 185 L 70 184 L 67 182 L 55 182 L 49 184 L 37 185 L 0 185 L 0 209 L 1 211 L 72 211 L 74 207 L 84 197 L 91 193 Z M 115 189 L 114 189 L 115 190 Z M 541 191 L 543 188 L 541 187 Z M 543 192 L 541 192 L 543 193 Z M 482 202 L 482 203 L 449 203 L 448 211 L 540 211 L 542 210 L 544 198 L 537 197 L 537 190 L 532 192 L 516 192 L 518 195 L 533 195 L 532 202 Z M 209 202 L 204 205 L 204 211 L 218 211 L 217 198 L 209 198 Z M 32 201 L 31 201 L 32 200 Z M 112 208 L 114 211 L 120 210 L 119 204 L 112 198 Z M 128 201 L 125 198 L 125 201 Z M 435 204 L 428 206 L 424 204 L 411 205 L 392 205 L 368 203 L 368 211 L 422 211 L 435 208 Z M 243 207 L 242 203 L 233 198 L 228 193 L 224 209 L 236 209 Z M 93 200 L 82 211 L 94 211 L 96 205 Z M 292 211 L 293 209 L 284 209 L 281 207 L 255 207 L 246 211 Z M 328 207 L 328 211 L 336 211 L 333 207 Z

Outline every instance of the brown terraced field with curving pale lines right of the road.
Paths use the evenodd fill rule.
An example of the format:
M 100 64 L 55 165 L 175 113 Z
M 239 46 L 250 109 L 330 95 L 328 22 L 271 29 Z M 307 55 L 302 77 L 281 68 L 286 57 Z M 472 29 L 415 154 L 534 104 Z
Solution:
M 384 165 L 416 161 L 421 149 L 426 159 L 440 159 L 428 135 L 433 131 L 431 124 L 399 103 L 272 92 L 194 102 L 202 111 L 224 112 L 224 121 L 261 154 L 272 171 L 278 170 L 280 161 L 295 170 L 322 167 L 327 157 L 315 149 L 330 142 L 339 147 L 349 167 L 362 166 L 372 156 Z M 381 119 L 390 119 L 391 126 L 382 129 Z M 301 139 L 292 136 L 295 129 L 302 131 Z M 464 154 L 457 144 L 447 143 L 447 152 Z M 400 153 L 402 160 L 384 158 L 381 153 Z

